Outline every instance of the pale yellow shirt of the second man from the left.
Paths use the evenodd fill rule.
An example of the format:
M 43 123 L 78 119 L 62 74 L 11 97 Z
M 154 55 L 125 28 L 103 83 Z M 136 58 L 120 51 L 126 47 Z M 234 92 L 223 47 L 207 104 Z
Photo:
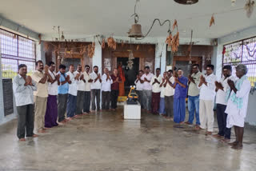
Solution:
M 48 82 L 46 81 L 45 84 L 39 83 L 43 78 L 43 73 L 36 70 L 32 74 L 31 78 L 34 80 L 34 82 L 36 82 L 36 86 L 38 88 L 37 91 L 34 91 L 34 96 L 48 97 Z

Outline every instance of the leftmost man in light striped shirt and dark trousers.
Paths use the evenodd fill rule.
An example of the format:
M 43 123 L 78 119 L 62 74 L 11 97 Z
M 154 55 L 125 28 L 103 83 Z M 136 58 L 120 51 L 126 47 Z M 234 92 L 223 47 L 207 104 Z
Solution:
M 17 136 L 19 141 L 26 137 L 38 137 L 34 134 L 34 99 L 33 91 L 37 90 L 36 83 L 26 75 L 25 64 L 18 66 L 18 75 L 14 78 L 13 89 L 18 113 Z

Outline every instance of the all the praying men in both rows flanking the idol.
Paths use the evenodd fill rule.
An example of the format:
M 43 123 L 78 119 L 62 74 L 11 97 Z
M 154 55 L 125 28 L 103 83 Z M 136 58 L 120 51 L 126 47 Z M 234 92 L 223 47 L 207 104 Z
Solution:
M 90 73 L 90 66 L 58 66 L 55 73 L 54 62 L 44 66 L 36 62 L 32 76 L 27 75 L 26 65 L 18 66 L 18 75 L 13 80 L 14 97 L 18 112 L 17 136 L 20 141 L 26 137 L 38 137 L 34 133 L 34 120 L 38 133 L 46 133 L 47 128 L 65 124 L 74 117 L 100 110 L 117 109 L 119 83 L 122 78 L 118 70 L 113 74 L 105 68 L 99 74 L 98 66 Z M 178 124 L 192 125 L 194 115 L 195 129 L 206 129 L 206 134 L 214 130 L 214 101 L 218 119 L 218 134 L 223 141 L 230 141 L 230 128 L 234 125 L 236 140 L 230 145 L 234 149 L 242 148 L 244 119 L 250 92 L 250 81 L 246 77 L 244 65 L 236 67 L 237 79 L 232 76 L 232 67 L 224 66 L 223 77 L 218 82 L 214 75 L 214 66 L 206 66 L 206 74 L 199 71 L 198 64 L 192 66 L 188 78 L 183 71 L 168 70 L 161 76 L 158 68 L 155 74 L 150 67 L 140 70 L 134 82 L 138 101 L 147 113 L 160 114 L 173 119 Z M 102 104 L 100 95 L 102 94 Z M 188 97 L 189 118 L 185 122 L 186 97 Z M 90 106 L 91 104 L 91 106 Z

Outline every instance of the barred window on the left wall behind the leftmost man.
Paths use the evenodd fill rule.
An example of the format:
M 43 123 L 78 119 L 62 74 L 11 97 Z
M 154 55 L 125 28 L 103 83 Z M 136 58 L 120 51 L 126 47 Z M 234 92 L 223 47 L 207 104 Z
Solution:
M 10 31 L 0 29 L 2 78 L 14 78 L 18 65 L 26 64 L 27 73 L 35 68 L 35 42 Z

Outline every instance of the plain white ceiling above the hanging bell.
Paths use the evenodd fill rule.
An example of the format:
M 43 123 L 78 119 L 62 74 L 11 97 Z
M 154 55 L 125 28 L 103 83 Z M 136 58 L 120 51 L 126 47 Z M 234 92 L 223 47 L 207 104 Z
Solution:
M 53 26 L 61 26 L 66 35 L 104 34 L 126 36 L 134 22 L 135 0 L 0 0 L 1 16 L 45 36 L 53 36 Z M 192 6 L 180 5 L 174 0 L 140 0 L 137 7 L 142 32 L 150 28 L 154 18 L 178 20 L 181 38 L 220 38 L 250 26 L 256 26 L 256 11 L 251 18 L 244 10 L 223 14 L 223 11 L 242 8 L 245 0 L 199 0 Z M 215 25 L 209 27 L 211 14 Z M 216 14 L 217 13 L 217 14 Z M 165 37 L 167 26 L 154 26 L 149 37 Z

